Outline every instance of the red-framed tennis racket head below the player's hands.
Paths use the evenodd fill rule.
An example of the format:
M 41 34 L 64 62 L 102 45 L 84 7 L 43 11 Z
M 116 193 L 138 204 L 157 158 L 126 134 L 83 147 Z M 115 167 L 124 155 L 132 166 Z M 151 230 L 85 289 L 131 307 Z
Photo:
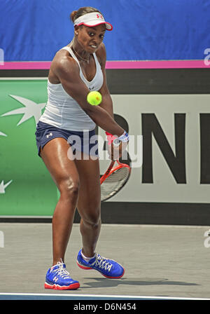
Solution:
M 116 165 L 115 165 L 116 163 Z M 111 161 L 109 168 L 101 177 L 101 200 L 104 202 L 116 195 L 130 177 L 131 168 L 120 161 Z

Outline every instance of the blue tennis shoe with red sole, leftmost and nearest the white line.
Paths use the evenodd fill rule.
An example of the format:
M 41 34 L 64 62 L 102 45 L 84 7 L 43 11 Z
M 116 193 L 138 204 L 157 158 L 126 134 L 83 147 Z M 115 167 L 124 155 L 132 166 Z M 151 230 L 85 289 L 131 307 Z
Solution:
M 70 290 L 79 287 L 79 282 L 71 278 L 64 263 L 58 262 L 48 269 L 45 278 L 45 289 Z

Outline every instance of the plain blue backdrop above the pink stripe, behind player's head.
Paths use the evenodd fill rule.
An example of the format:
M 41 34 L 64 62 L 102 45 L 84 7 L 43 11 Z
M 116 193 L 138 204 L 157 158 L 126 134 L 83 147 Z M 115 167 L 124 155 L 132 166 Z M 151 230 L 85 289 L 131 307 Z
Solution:
M 0 0 L 5 61 L 50 61 L 73 37 L 72 11 L 93 6 L 113 25 L 107 60 L 202 60 L 209 0 Z

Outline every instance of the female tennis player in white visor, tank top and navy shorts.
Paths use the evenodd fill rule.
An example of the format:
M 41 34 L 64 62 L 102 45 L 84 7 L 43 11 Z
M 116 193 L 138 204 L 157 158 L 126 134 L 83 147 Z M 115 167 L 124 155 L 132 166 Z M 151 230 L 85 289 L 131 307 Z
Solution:
M 113 28 L 95 8 L 83 7 L 71 13 L 74 36 L 59 50 L 48 76 L 48 103 L 36 126 L 38 154 L 41 156 L 60 197 L 52 217 L 52 266 L 45 278 L 48 289 L 78 289 L 80 284 L 66 270 L 64 256 L 69 242 L 73 217 L 78 208 L 83 247 L 77 264 L 95 269 L 107 278 L 121 278 L 124 268 L 112 259 L 95 252 L 101 228 L 101 191 L 99 158 L 91 154 L 90 139 L 99 125 L 109 134 L 127 142 L 128 135 L 113 119 L 113 103 L 106 85 L 106 30 Z M 87 94 L 98 90 L 102 103 L 91 106 Z M 82 158 L 73 156 L 73 141 Z M 94 158 L 91 158 L 94 157 Z M 89 157 L 89 158 L 87 158 Z

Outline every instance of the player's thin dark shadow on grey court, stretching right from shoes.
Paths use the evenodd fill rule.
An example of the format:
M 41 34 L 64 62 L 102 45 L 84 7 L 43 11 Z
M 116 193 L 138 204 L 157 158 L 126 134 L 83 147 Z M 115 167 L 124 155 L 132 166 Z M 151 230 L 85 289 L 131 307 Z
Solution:
M 101 287 L 118 287 L 118 285 L 134 285 L 134 286 L 144 286 L 144 285 L 180 285 L 180 286 L 197 286 L 197 283 L 193 282 L 183 282 L 183 281 L 170 281 L 166 278 L 142 278 L 142 279 L 109 279 L 109 278 L 86 278 L 94 280 L 91 282 L 85 282 L 83 289 L 90 288 L 101 288 Z

